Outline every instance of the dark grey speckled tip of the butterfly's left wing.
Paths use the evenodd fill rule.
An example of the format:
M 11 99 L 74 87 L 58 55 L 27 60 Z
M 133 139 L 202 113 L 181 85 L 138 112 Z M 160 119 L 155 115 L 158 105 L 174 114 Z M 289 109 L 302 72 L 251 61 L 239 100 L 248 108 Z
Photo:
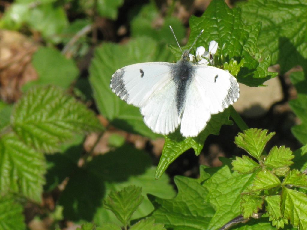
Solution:
M 110 87 L 117 96 L 119 96 L 123 100 L 127 100 L 129 94 L 127 92 L 125 82 L 123 80 L 124 74 L 125 74 L 125 68 L 117 70 L 111 78 Z

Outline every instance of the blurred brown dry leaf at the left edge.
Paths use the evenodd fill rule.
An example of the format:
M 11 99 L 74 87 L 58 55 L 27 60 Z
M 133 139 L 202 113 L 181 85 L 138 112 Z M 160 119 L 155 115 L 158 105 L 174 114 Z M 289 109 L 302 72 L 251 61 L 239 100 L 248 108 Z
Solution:
M 31 64 L 38 44 L 21 33 L 0 30 L 0 97 L 15 102 L 21 95 L 21 86 L 37 79 Z

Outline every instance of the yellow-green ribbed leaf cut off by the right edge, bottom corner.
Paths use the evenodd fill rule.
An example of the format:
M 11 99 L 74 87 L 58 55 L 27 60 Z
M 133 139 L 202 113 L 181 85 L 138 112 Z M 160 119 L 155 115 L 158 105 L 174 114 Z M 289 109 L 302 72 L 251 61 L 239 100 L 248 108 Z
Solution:
M 307 229 L 307 195 L 301 192 L 283 188 L 281 199 L 283 217 L 290 220 L 294 227 Z

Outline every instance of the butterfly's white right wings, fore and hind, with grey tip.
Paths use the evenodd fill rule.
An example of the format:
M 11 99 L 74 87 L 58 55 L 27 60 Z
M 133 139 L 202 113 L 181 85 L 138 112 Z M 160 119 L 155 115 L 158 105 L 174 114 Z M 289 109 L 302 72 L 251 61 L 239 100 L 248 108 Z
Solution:
M 212 66 L 193 65 L 195 75 L 186 91 L 181 134 L 197 136 L 212 114 L 222 112 L 239 98 L 239 84 L 229 72 Z

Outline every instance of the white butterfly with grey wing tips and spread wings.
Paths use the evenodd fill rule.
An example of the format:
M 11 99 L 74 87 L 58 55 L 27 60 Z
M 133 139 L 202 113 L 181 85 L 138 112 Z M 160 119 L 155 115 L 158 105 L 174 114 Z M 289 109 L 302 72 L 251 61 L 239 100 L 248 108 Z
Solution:
M 213 46 L 211 49 L 216 51 L 217 43 Z M 181 125 L 182 136 L 197 136 L 212 114 L 222 112 L 239 98 L 235 77 L 228 71 L 205 65 L 208 63 L 201 55 L 196 55 L 196 61 L 204 64 L 193 64 L 191 60 L 195 57 L 189 54 L 190 50 L 182 52 L 176 64 L 138 63 L 112 75 L 112 91 L 128 104 L 138 106 L 145 124 L 153 132 L 167 135 Z M 200 50 L 205 57 L 211 55 L 210 63 L 213 63 L 212 53 Z

